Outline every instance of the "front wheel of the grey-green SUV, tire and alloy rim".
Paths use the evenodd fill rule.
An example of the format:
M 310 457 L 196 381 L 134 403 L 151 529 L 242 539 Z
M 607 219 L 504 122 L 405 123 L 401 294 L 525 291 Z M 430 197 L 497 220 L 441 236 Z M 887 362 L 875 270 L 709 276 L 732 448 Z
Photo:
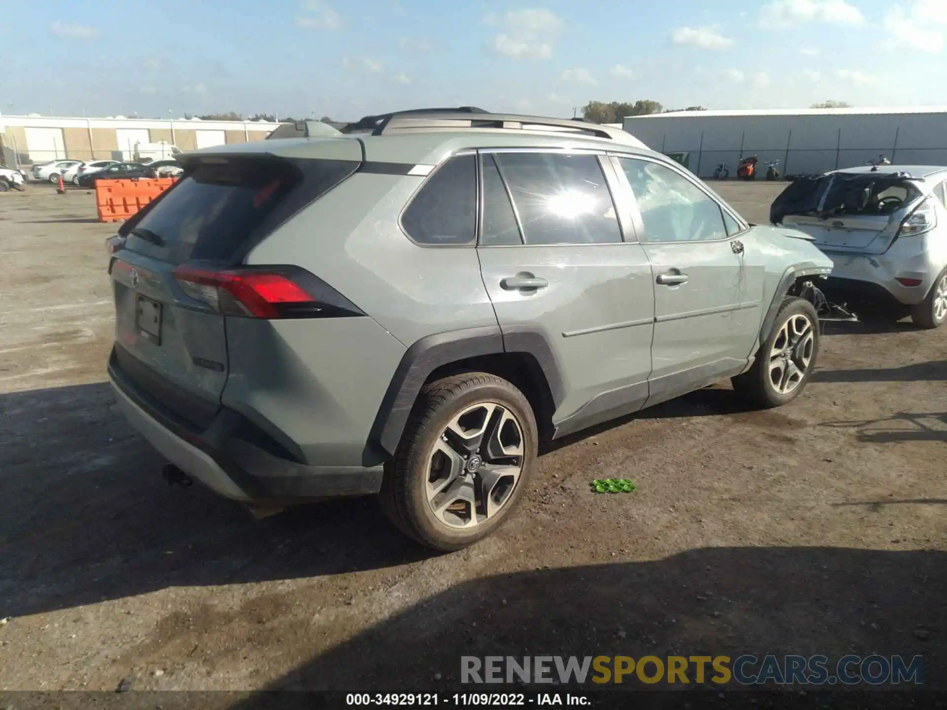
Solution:
M 813 304 L 804 298 L 786 298 L 753 365 L 731 379 L 733 389 L 743 399 L 765 409 L 788 404 L 809 382 L 820 338 Z

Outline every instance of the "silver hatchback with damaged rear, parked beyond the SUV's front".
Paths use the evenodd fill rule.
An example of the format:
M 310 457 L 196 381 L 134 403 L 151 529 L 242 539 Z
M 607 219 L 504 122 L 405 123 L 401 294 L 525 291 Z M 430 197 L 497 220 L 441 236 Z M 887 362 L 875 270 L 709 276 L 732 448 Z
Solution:
M 945 187 L 944 167 L 837 170 L 787 187 L 770 220 L 831 257 L 827 295 L 938 328 L 947 320 Z

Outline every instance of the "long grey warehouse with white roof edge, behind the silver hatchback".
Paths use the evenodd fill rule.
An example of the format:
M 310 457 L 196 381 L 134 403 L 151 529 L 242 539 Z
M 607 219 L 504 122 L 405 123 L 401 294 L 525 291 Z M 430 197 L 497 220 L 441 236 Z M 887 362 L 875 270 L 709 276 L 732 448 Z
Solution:
M 862 166 L 879 155 L 947 166 L 947 106 L 680 111 L 628 116 L 623 127 L 654 151 L 688 153 L 688 168 L 700 177 L 721 163 L 733 177 L 752 155 L 760 174 L 774 160 L 789 175 Z

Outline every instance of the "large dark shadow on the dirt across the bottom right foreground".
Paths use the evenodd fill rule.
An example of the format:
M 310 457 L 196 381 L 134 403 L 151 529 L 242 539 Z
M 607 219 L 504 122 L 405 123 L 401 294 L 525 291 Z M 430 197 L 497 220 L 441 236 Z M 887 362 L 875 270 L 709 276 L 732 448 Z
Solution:
M 945 591 L 947 553 L 824 547 L 704 548 L 656 561 L 487 577 L 421 601 L 268 689 L 457 689 L 461 656 L 725 655 L 732 661 L 744 653 L 760 659 L 824 654 L 832 671 L 849 653 L 900 654 L 908 661 L 919 654 L 925 688 L 943 688 Z M 586 689 L 662 687 L 625 681 Z M 709 674 L 706 685 L 721 689 Z

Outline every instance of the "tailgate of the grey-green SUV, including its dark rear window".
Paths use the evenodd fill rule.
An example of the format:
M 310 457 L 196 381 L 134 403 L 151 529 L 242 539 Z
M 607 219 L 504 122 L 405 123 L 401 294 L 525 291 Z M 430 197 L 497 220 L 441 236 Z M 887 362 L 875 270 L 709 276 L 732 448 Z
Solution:
M 224 317 L 208 306 L 216 300 L 212 296 L 188 295 L 175 268 L 188 263 L 220 270 L 240 263 L 251 243 L 292 214 L 286 210 L 307 204 L 298 195 L 310 189 L 311 177 L 319 184 L 318 164 L 335 171 L 329 175 L 335 182 L 324 180 L 324 189 L 357 168 L 361 151 L 355 141 L 351 148 L 351 162 L 291 163 L 265 155 L 206 159 L 215 162 L 191 166 L 184 179 L 126 222 L 120 230 L 126 245 L 111 267 L 116 357 L 124 373 L 191 423 L 209 422 L 227 378 Z

